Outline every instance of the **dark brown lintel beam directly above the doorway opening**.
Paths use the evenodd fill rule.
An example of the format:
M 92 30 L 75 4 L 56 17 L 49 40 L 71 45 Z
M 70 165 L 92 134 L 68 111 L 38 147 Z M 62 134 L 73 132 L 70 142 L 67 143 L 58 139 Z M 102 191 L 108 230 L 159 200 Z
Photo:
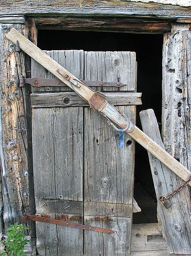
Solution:
M 125 33 L 163 34 L 171 31 L 170 20 L 136 19 L 126 17 L 95 16 L 65 17 L 37 16 L 35 24 L 38 29 L 59 29 L 78 31 L 105 31 Z

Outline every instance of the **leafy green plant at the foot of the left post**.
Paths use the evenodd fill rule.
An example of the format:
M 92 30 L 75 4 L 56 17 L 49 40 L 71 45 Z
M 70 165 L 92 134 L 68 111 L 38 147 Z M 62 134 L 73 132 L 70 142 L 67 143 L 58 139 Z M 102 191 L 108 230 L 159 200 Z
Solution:
M 24 246 L 27 244 L 28 240 L 25 239 L 25 235 L 22 233 L 22 229 L 29 229 L 28 227 L 23 226 L 23 224 L 15 223 L 7 228 L 7 236 L 4 240 L 4 250 L 2 256 L 25 256 Z M 4 254 L 3 254 L 4 253 Z M 1 254 L 0 254 L 1 256 Z

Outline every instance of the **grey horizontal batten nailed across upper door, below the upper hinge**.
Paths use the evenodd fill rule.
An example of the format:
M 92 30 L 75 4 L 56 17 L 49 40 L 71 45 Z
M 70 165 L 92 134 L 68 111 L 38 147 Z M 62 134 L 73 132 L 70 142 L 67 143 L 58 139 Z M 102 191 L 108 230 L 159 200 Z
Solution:
M 134 92 L 105 92 L 108 101 L 115 105 L 141 105 L 141 93 Z M 69 107 L 69 106 L 89 106 L 89 104 L 78 96 L 75 92 L 43 93 L 31 95 L 33 108 L 47 107 Z

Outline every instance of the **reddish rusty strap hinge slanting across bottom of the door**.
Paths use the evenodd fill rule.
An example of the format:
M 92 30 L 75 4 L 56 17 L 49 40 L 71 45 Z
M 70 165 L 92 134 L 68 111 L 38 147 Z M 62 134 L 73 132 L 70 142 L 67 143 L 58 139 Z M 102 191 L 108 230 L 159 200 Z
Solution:
M 22 215 L 22 222 L 26 223 L 27 219 L 30 219 L 30 220 L 33 220 L 33 221 L 48 222 L 48 223 L 52 223 L 52 224 L 67 226 L 67 227 L 70 227 L 70 228 L 78 228 L 78 229 L 102 232 L 102 233 L 107 233 L 107 234 L 115 233 L 115 231 L 112 230 L 112 229 L 93 227 L 93 226 L 74 223 L 74 222 L 71 222 L 71 221 L 53 219 L 53 218 L 48 218 L 48 217 L 40 217 L 40 216 L 33 215 L 33 214 L 31 214 L 31 215 L 23 214 Z

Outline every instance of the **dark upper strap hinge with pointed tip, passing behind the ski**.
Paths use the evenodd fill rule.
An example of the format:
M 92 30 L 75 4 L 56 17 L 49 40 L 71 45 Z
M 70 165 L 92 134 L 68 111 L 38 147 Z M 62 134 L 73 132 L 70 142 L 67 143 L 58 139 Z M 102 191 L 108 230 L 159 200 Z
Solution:
M 122 87 L 126 84 L 121 82 L 102 82 L 102 81 L 88 81 L 88 80 L 81 80 L 84 84 L 89 87 Z M 62 86 L 68 87 L 64 82 L 60 79 L 47 79 L 47 78 L 24 78 L 23 76 L 19 79 L 19 86 L 24 87 L 24 85 L 30 84 L 34 87 L 41 87 L 41 86 Z

